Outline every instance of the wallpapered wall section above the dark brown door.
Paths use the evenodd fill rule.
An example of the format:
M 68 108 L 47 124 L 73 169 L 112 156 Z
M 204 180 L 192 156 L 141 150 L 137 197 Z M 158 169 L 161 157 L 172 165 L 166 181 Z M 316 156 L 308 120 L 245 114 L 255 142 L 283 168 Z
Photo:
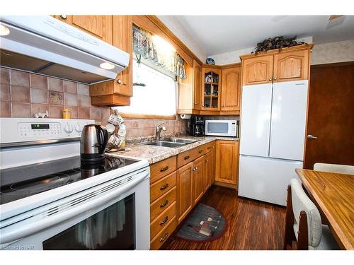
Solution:
M 354 40 L 329 42 L 314 45 L 311 64 L 332 64 L 342 61 L 354 61 Z

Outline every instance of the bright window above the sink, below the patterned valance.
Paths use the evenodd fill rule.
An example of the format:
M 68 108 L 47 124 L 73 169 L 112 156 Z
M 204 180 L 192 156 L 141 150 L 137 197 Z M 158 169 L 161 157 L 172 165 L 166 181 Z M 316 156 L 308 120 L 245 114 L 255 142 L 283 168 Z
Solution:
M 129 117 L 176 115 L 175 78 L 156 71 L 154 66 L 133 60 L 133 96 L 130 106 L 113 107 Z

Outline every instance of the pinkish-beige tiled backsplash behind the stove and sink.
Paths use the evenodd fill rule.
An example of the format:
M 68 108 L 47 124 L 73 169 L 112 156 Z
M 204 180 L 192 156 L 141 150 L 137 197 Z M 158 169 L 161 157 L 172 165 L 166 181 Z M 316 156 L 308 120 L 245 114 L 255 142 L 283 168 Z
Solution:
M 92 106 L 87 85 L 1 67 L 0 71 L 0 117 L 33 117 L 47 110 L 50 118 L 62 118 L 62 110 L 67 107 L 72 119 L 94 119 L 107 124 L 110 108 Z M 166 122 L 167 131 L 161 135 L 173 136 L 186 130 L 186 122 L 179 117 L 125 119 L 127 139 L 154 136 L 154 128 L 162 122 Z

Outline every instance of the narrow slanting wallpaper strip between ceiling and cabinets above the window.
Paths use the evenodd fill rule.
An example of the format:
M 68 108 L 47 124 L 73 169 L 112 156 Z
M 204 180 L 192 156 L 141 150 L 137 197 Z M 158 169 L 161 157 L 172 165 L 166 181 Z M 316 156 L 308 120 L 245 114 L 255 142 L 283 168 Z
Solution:
M 159 18 L 159 20 L 161 20 L 161 22 L 164 23 L 166 27 L 169 28 L 169 30 L 171 30 L 171 32 L 173 32 L 173 34 L 176 35 L 176 37 L 178 37 L 178 39 L 200 59 L 200 61 L 205 61 L 205 59 L 207 59 L 207 55 L 202 47 L 195 43 L 193 37 L 189 35 L 174 16 L 157 16 L 157 18 Z

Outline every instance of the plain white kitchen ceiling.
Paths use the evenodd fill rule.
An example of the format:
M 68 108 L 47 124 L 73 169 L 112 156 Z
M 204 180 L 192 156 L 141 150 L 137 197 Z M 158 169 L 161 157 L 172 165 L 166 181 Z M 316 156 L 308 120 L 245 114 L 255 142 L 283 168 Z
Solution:
M 207 55 L 256 47 L 268 37 L 314 37 L 314 43 L 354 40 L 354 16 L 175 16 Z

